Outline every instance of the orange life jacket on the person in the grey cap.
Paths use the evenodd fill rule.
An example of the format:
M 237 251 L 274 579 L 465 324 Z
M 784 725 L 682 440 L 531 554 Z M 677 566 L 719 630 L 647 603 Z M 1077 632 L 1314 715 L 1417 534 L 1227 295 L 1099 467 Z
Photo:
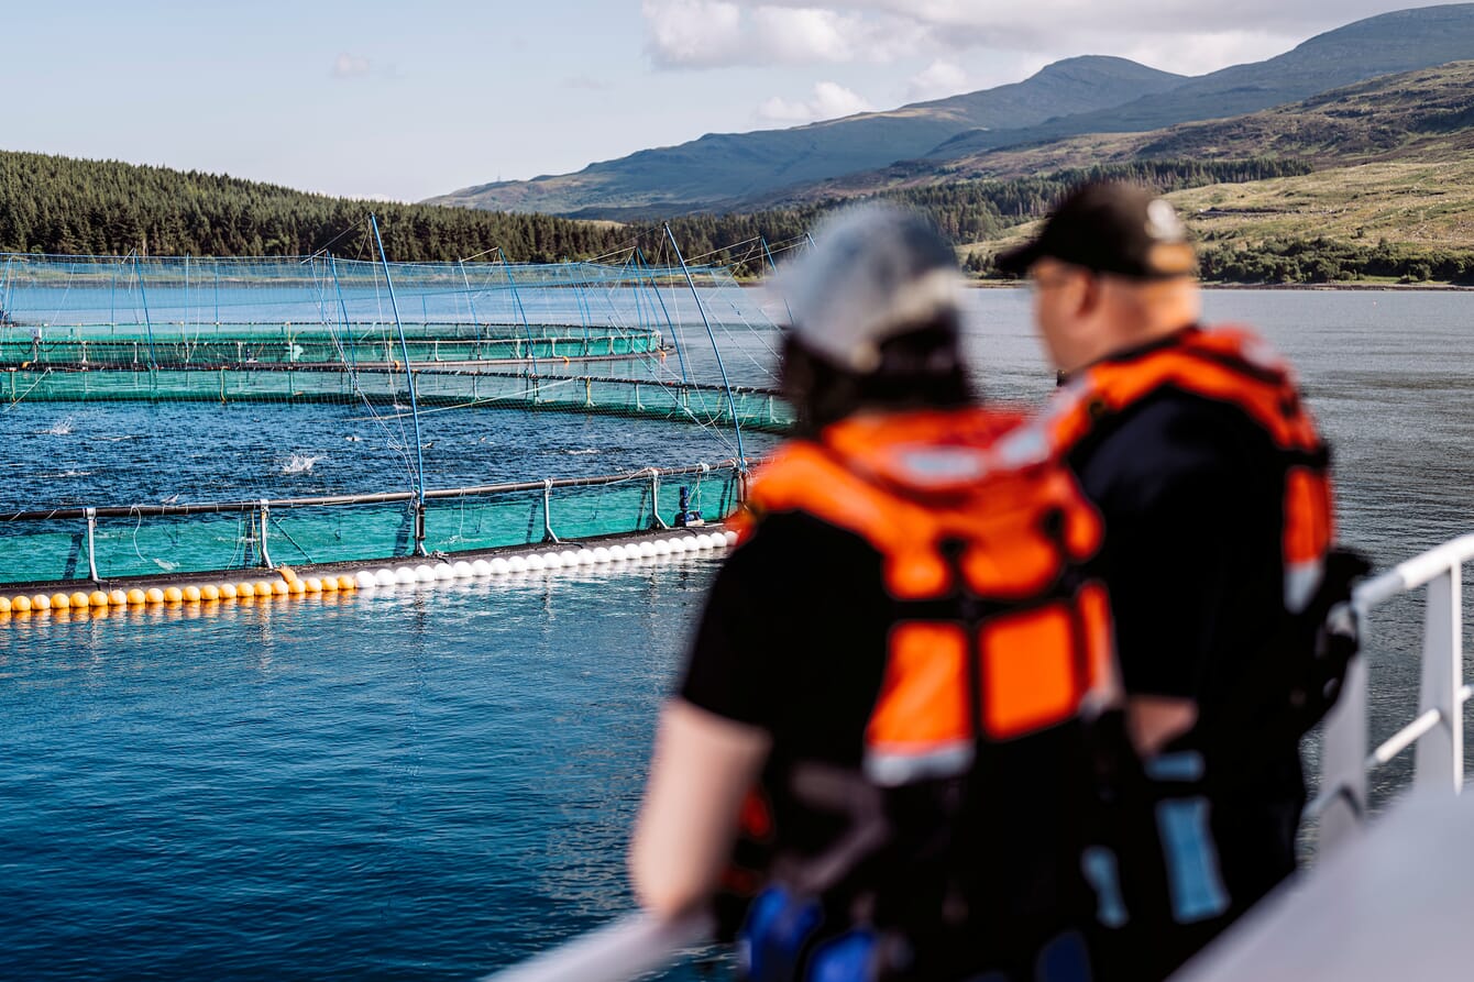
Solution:
M 756 475 L 764 513 L 802 510 L 865 538 L 896 600 L 865 731 L 883 786 L 965 773 L 980 742 L 1060 724 L 1113 683 L 1110 610 L 1088 575 L 1095 509 L 1017 416 L 856 416 L 783 445 Z

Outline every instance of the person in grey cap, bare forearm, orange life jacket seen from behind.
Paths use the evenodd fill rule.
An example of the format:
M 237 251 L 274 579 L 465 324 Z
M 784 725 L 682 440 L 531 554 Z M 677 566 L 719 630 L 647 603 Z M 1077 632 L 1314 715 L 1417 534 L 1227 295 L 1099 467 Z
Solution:
M 1017 416 L 973 404 L 935 231 L 864 208 L 815 237 L 780 279 L 800 423 L 662 712 L 635 895 L 662 916 L 743 895 L 761 982 L 1089 979 L 1098 516 Z M 728 866 L 740 815 L 756 855 Z

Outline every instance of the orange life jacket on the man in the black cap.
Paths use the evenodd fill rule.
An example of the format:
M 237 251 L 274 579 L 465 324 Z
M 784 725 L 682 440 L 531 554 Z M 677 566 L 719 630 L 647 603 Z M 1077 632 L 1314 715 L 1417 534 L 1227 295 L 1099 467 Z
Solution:
M 1330 454 L 1300 401 L 1290 366 L 1244 327 L 1188 329 L 1135 358 L 1095 364 L 1055 395 L 1041 419 L 1066 454 L 1104 420 L 1172 386 L 1243 410 L 1284 460 L 1284 600 L 1299 613 L 1321 584 L 1334 538 Z

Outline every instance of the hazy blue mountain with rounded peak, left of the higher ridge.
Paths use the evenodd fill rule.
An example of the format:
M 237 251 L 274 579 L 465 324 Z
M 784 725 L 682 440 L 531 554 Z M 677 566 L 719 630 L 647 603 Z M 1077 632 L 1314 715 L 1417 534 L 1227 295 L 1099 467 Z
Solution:
M 778 189 L 921 156 L 958 133 L 1035 125 L 1132 102 L 1184 77 L 1122 58 L 1072 58 L 1008 86 L 790 130 L 708 134 L 576 174 L 467 187 L 426 203 L 562 215 L 719 209 Z

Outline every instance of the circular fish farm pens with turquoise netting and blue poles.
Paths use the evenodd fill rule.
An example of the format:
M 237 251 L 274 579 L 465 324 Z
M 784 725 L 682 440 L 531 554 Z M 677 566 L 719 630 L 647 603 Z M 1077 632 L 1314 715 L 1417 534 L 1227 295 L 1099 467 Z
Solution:
M 719 267 L 0 258 L 0 584 L 728 513 L 790 422 Z

